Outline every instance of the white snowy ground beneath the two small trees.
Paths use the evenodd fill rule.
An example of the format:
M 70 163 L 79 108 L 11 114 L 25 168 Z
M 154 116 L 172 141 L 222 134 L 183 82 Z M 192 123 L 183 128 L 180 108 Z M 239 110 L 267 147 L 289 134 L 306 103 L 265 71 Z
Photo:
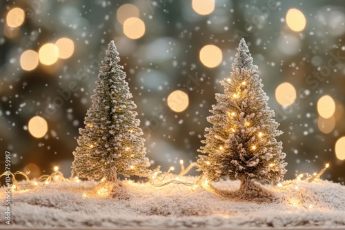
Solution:
M 181 180 L 193 182 L 197 178 Z M 126 193 L 122 191 L 115 198 L 97 194 L 100 186 L 93 181 L 52 182 L 44 187 L 13 191 L 12 227 L 345 228 L 345 187 L 326 180 L 296 180 L 282 188 L 268 186 L 268 200 L 257 198 L 255 194 L 251 200 L 236 196 L 225 198 L 208 186 L 153 187 L 148 182 L 128 180 L 123 185 Z M 238 189 L 239 182 L 221 181 L 213 186 L 223 194 L 231 194 Z M 3 205 L 1 202 L 1 210 L 4 210 Z M 7 227 L 1 224 L 1 229 Z

